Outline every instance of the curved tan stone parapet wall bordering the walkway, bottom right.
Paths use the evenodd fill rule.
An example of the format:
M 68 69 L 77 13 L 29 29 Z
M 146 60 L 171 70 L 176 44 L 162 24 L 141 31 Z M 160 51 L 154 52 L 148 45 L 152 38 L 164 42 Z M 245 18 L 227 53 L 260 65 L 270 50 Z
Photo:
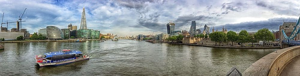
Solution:
M 243 76 L 278 76 L 283 68 L 300 55 L 300 46 L 272 52 L 254 62 L 243 72 Z

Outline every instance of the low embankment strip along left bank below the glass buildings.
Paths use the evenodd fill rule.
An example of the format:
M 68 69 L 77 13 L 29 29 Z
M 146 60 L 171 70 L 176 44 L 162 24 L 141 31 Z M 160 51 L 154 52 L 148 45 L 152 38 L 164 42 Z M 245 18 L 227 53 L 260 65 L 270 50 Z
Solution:
M 104 39 L 89 39 L 84 41 L 94 41 L 94 40 L 104 40 Z M 75 40 L 25 40 L 25 41 L 1 41 L 0 43 L 22 43 L 22 42 L 58 42 L 58 41 L 76 41 Z

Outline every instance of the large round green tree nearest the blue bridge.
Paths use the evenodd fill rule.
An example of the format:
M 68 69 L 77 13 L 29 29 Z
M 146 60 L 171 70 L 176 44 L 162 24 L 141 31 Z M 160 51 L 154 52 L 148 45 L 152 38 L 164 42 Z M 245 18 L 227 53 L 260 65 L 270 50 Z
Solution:
M 274 34 L 271 31 L 269 31 L 269 29 L 267 29 L 267 28 L 258 30 L 254 34 L 254 38 L 259 41 L 262 41 L 263 46 L 265 46 L 265 42 L 274 41 L 274 39 L 275 39 Z

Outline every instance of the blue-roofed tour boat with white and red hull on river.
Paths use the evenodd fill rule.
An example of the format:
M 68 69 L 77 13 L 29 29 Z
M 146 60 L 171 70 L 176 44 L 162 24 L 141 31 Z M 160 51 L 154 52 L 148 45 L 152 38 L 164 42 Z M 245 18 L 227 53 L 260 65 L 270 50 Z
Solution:
M 70 49 L 35 55 L 35 61 L 39 64 L 39 66 L 59 66 L 88 59 L 88 55 L 83 54 L 79 50 Z

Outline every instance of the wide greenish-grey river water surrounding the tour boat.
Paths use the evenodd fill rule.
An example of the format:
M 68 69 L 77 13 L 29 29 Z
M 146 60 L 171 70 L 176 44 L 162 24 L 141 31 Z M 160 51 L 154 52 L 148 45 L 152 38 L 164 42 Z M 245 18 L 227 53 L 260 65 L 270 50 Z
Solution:
M 255 61 L 278 50 L 225 49 L 134 40 L 4 43 L 4 47 L 0 50 L 0 76 L 223 76 L 233 66 L 242 73 Z M 62 66 L 35 66 L 35 55 L 62 49 L 78 49 L 91 58 Z

